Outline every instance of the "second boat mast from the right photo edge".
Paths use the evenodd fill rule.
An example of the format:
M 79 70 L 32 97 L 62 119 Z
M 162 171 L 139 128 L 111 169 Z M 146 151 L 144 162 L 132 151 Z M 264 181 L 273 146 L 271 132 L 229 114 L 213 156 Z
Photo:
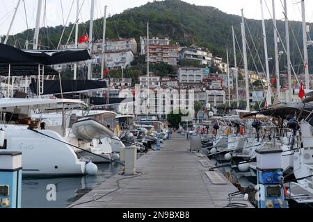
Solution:
M 292 83 L 291 83 L 291 59 L 290 59 L 290 41 L 289 41 L 289 21 L 287 14 L 287 0 L 284 0 L 284 28 L 286 30 L 286 45 L 287 45 L 287 74 L 288 74 L 288 88 L 289 101 L 292 97 Z

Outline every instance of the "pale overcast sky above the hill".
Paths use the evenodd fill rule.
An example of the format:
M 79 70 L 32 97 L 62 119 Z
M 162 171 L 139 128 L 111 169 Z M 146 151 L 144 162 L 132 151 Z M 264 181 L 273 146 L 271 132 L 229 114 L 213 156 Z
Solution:
M 0 35 L 6 35 L 10 20 L 13 17 L 14 9 L 18 0 L 0 0 Z M 120 13 L 128 8 L 134 8 L 147 3 L 149 0 L 95 0 L 95 17 L 102 17 L 104 13 L 104 6 L 108 6 L 108 14 L 114 15 Z M 223 12 L 229 14 L 241 15 L 241 8 L 244 9 L 245 16 L 253 19 L 261 19 L 259 0 L 184 0 L 188 3 L 193 3 L 200 6 L 214 6 Z M 282 2 L 284 0 L 275 0 L 276 2 L 276 17 L 283 19 Z M 24 8 L 25 2 L 25 8 Z M 17 11 L 17 16 L 13 24 L 10 35 L 24 31 L 26 28 L 34 28 L 35 13 L 37 10 L 38 0 L 22 0 Z M 46 12 L 45 20 L 42 19 L 41 26 L 56 26 L 66 23 L 68 15 L 68 22 L 74 23 L 76 17 L 77 0 L 46 0 L 46 10 L 42 10 L 42 18 Z M 62 2 L 62 6 L 61 6 Z M 83 3 L 81 7 L 80 22 L 86 22 L 90 18 L 90 2 L 91 0 L 80 0 Z M 289 8 L 289 19 L 300 20 L 300 0 L 287 0 Z M 268 8 L 266 8 L 266 4 Z M 264 3 L 264 14 L 266 18 L 270 17 L 268 10 L 271 8 L 271 0 L 266 0 Z M 306 0 L 306 19 L 307 22 L 313 21 L 313 0 Z M 72 11 L 70 9 L 72 7 Z M 63 8 L 63 10 L 62 10 Z M 26 9 L 26 13 L 25 13 Z M 62 13 L 63 11 L 63 13 Z M 271 12 L 272 13 L 272 12 Z M 25 16 L 26 14 L 26 16 Z M 27 18 L 27 19 L 26 19 Z M 68 24 L 67 22 L 67 24 Z

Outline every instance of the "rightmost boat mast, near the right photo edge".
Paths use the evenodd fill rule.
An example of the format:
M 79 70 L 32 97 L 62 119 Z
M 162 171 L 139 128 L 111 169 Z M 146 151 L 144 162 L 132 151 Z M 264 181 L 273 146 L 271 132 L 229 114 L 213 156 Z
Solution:
M 305 1 L 301 0 L 302 8 L 302 33 L 303 33 L 303 53 L 304 53 L 304 71 L 305 71 L 305 89 L 310 89 L 309 76 L 309 56 L 307 56 L 307 24 L 305 22 Z

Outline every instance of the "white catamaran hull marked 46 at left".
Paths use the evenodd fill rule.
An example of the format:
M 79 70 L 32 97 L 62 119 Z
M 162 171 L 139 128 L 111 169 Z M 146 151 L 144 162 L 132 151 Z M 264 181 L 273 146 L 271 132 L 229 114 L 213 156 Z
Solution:
M 63 141 L 58 133 L 50 130 L 39 130 L 40 133 L 45 134 L 40 135 L 27 129 L 27 126 L 2 125 L 1 128 L 6 133 L 6 147 L 1 148 L 1 151 L 22 152 L 24 175 L 85 174 L 86 162 L 79 160 L 70 146 L 56 140 Z

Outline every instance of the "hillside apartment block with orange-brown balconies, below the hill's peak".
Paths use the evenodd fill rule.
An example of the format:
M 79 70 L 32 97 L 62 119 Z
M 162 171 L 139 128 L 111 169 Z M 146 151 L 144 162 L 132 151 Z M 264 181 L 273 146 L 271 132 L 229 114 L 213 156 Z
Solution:
M 177 46 L 173 44 L 151 44 L 149 45 L 149 58 L 151 63 L 165 62 L 168 65 L 177 65 Z M 147 51 L 147 49 L 146 49 Z M 147 53 L 145 54 L 147 61 Z

